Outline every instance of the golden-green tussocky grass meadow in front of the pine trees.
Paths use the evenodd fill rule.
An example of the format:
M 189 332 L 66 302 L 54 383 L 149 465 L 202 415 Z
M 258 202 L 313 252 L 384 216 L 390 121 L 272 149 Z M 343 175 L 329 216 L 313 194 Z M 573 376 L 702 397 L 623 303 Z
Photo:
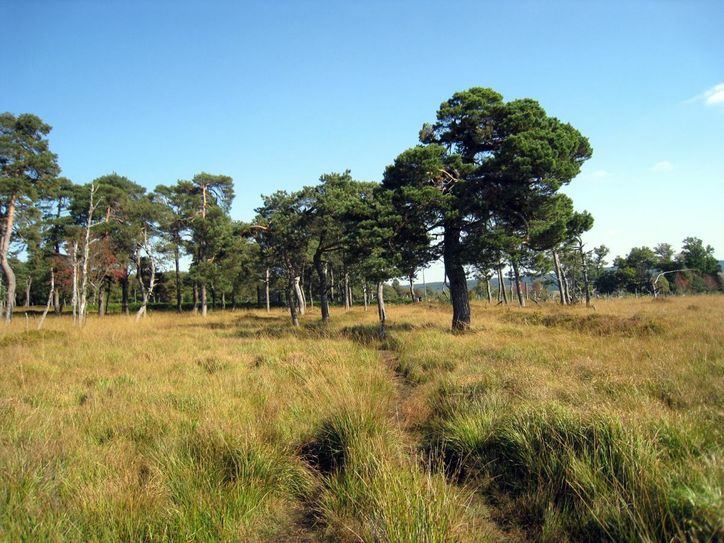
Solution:
M 716 541 L 724 298 L 21 314 L 0 540 Z

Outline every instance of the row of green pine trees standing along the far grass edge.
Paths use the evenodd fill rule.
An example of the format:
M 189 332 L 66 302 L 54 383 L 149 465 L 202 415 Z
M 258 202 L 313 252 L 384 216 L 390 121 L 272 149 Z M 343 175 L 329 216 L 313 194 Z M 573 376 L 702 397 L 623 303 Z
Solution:
M 355 297 L 365 307 L 374 301 L 384 325 L 386 283 L 403 278 L 414 301 L 419 270 L 442 259 L 454 330 L 470 326 L 471 273 L 492 301 L 491 279 L 503 285 L 509 269 L 510 297 L 520 305 L 530 299 L 525 277 L 552 275 L 562 304 L 589 304 L 595 289 L 645 282 L 637 275 L 642 255 L 617 259 L 611 270 L 604 246 L 585 247 L 593 217 L 561 192 L 591 157 L 588 140 L 536 101 L 505 101 L 492 89 L 474 87 L 443 102 L 419 144 L 398 155 L 381 182 L 356 180 L 349 171 L 325 174 L 298 191 L 262 196 L 249 222 L 230 216 L 234 187 L 226 175 L 202 172 L 153 191 L 116 173 L 75 184 L 60 176 L 50 130 L 32 114 L 0 115 L 7 320 L 18 274 L 26 304 L 43 298 L 43 318 L 65 304 L 79 323 L 90 306 L 102 316 L 115 289 L 125 313 L 133 296 L 137 318 L 159 296 L 178 311 L 190 298 L 191 309 L 206 315 L 209 297 L 225 306 L 256 294 L 269 308 L 276 294 L 294 325 L 308 305 L 317 303 L 326 322 L 331 303 L 349 307 Z M 651 280 L 659 264 L 663 272 L 685 269 L 718 281 L 708 260 L 695 265 L 673 252 L 666 262 L 646 258 L 655 293 L 669 285 L 666 273 Z M 513 301 L 505 288 L 498 293 Z

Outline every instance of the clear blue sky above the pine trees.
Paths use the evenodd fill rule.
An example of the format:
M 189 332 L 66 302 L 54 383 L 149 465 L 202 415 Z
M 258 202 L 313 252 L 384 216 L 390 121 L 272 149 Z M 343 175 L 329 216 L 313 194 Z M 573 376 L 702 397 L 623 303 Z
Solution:
M 590 138 L 567 189 L 590 245 L 695 235 L 724 258 L 722 1 L 0 0 L 0 21 L 0 110 L 50 123 L 78 183 L 224 173 L 249 220 L 324 172 L 379 180 L 440 102 L 489 86 Z

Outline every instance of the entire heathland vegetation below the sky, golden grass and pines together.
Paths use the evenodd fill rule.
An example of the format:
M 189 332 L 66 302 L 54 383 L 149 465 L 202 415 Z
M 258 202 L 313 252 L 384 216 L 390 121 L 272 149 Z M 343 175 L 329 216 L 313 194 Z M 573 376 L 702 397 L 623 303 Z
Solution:
M 724 536 L 719 262 L 588 248 L 591 146 L 537 102 L 456 93 L 380 182 L 248 221 L 49 133 L 0 115 L 0 539 Z

